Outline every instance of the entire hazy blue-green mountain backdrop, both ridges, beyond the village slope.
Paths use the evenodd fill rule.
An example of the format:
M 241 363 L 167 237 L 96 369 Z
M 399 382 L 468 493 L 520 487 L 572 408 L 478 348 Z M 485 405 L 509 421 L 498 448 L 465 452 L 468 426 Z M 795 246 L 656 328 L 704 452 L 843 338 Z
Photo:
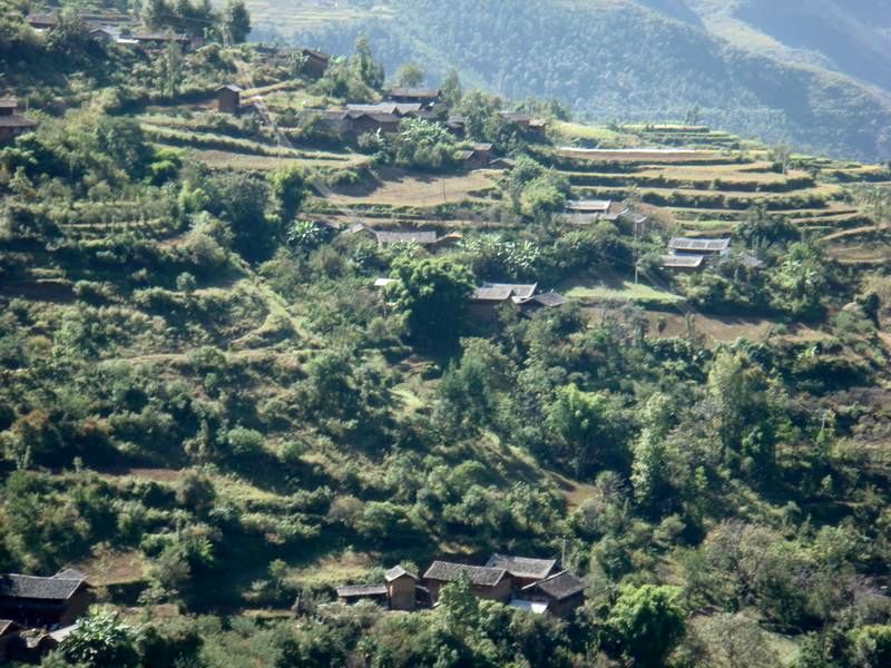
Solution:
M 353 4 L 361 6 L 339 8 Z M 340 51 L 364 31 L 389 72 L 417 61 L 435 79 L 454 66 L 506 96 L 555 97 L 600 121 L 683 120 L 697 108 L 706 122 L 743 136 L 887 157 L 891 69 L 880 8 L 865 20 L 864 8 L 802 4 L 765 11 L 745 2 L 731 13 L 726 2 L 705 1 L 394 0 L 358 16 L 309 3 L 252 7 L 267 17 L 257 20 L 257 38 L 295 36 Z M 765 32 L 787 46 L 767 48 Z

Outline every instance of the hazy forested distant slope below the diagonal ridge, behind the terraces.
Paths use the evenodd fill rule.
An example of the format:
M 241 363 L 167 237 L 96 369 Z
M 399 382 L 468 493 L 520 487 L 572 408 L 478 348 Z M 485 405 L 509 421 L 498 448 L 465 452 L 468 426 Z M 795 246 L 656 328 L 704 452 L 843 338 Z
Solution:
M 366 31 L 388 71 L 415 60 L 432 80 L 454 66 L 466 82 L 556 97 L 598 120 L 677 119 L 698 106 L 705 121 L 746 136 L 870 159 L 889 153 L 891 108 L 874 91 L 715 39 L 692 4 L 648 4 L 394 0 L 383 18 L 334 13 L 296 38 L 343 51 Z

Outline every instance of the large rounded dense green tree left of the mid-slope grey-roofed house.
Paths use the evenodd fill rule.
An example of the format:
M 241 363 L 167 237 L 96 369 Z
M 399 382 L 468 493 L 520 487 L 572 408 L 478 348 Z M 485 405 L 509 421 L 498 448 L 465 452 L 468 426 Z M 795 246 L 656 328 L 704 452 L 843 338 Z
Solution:
M 396 281 L 388 291 L 409 335 L 430 346 L 453 345 L 473 292 L 470 271 L 446 257 L 400 258 L 391 275 Z

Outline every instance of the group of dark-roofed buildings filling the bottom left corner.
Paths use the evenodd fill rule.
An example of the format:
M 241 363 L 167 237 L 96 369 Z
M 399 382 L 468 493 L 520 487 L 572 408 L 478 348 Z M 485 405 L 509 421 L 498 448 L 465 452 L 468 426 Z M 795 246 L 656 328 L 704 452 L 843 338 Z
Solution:
M 39 662 L 77 628 L 92 602 L 92 587 L 80 571 L 49 578 L 0 574 L 0 664 Z

